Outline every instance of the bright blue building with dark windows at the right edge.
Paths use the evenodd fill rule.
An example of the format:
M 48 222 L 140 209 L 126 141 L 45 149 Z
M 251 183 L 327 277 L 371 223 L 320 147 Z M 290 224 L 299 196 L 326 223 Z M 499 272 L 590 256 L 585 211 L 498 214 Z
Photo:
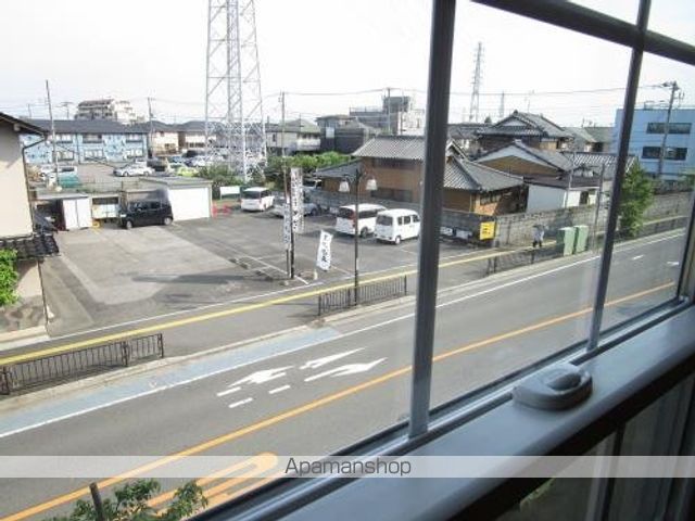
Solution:
M 666 126 L 667 110 L 639 109 L 634 111 L 630 132 L 630 153 L 650 175 L 657 176 L 659 155 Z M 618 152 L 622 109 L 616 111 L 612 152 Z M 683 175 L 695 174 L 695 109 L 673 109 L 666 138 L 661 179 L 682 180 Z

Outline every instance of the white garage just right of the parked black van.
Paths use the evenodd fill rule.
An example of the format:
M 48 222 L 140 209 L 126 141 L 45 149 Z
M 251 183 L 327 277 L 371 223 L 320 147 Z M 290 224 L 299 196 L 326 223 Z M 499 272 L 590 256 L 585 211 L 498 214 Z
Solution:
M 212 217 L 212 182 L 194 177 L 148 179 L 164 188 L 172 205 L 174 220 L 207 219 Z

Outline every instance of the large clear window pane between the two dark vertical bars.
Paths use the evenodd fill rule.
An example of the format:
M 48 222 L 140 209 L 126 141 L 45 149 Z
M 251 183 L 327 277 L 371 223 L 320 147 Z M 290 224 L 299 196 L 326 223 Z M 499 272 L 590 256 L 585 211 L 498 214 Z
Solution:
M 458 16 L 456 37 L 465 38 L 475 29 L 466 16 Z M 533 81 L 526 93 L 520 85 L 514 96 L 480 99 L 478 122 L 490 116 L 490 123 L 479 127 L 473 150 L 467 153 L 477 157 L 475 164 L 489 168 L 469 167 L 482 187 L 465 194 L 444 189 L 445 209 L 469 205 L 477 215 L 475 220 L 446 216 L 442 233 L 471 251 L 489 250 L 454 257 L 440 268 L 431 407 L 579 345 L 589 335 L 599 271 L 595 238 L 606 216 L 606 198 L 604 193 L 597 205 L 595 195 L 582 193 L 602 185 L 608 191 L 615 163 L 610 127 L 624 97 L 624 88 L 610 88 L 624 86 L 629 51 L 557 28 L 546 30 L 523 17 L 503 20 L 503 26 L 485 27 L 483 53 L 489 60 L 490 53 L 504 48 L 508 63 L 523 64 L 523 76 Z M 510 34 L 525 37 L 509 47 L 503 42 Z M 455 49 L 454 63 L 476 56 L 476 45 L 457 42 Z M 554 61 L 549 75 L 546 65 L 528 60 L 538 49 L 573 49 L 572 60 Z M 609 67 L 595 59 L 599 55 L 611 56 Z M 504 78 L 511 71 L 505 69 L 498 79 L 486 77 L 485 89 L 509 89 Z M 559 77 L 576 80 L 560 89 L 555 84 Z M 463 92 L 452 98 L 454 106 L 469 102 L 470 94 Z M 451 111 L 450 125 L 456 122 L 460 109 Z M 590 132 L 597 138 L 590 138 Z M 442 294 L 451 287 L 455 292 Z

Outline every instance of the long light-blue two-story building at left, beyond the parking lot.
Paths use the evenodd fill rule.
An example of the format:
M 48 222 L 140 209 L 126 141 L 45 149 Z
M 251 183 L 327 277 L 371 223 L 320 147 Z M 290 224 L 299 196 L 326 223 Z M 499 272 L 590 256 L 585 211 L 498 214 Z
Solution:
M 50 140 L 51 123 L 48 119 L 30 119 L 29 123 L 46 129 Z M 148 135 L 141 126 L 108 119 L 56 119 L 54 124 L 56 155 L 61 163 L 124 162 L 148 156 Z M 24 145 L 39 139 L 22 136 Z M 51 163 L 52 152 L 52 144 L 46 141 L 26 149 L 26 161 L 29 164 Z

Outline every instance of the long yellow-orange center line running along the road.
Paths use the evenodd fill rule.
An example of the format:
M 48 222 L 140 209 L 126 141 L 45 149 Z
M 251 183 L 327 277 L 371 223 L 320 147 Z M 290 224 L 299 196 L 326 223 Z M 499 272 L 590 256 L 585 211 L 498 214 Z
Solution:
M 628 301 L 631 301 L 631 300 L 640 298 L 642 296 L 646 296 L 646 295 L 652 294 L 652 293 L 656 293 L 658 291 L 671 288 L 673 285 L 675 285 L 673 282 L 668 282 L 668 283 L 660 284 L 660 285 L 657 285 L 657 287 L 654 287 L 654 288 L 649 288 L 648 290 L 640 291 L 637 293 L 632 293 L 630 295 L 626 295 L 626 296 L 622 296 L 622 297 L 619 297 L 619 298 L 615 298 L 612 301 L 608 301 L 608 302 L 606 302 L 605 306 L 606 307 L 615 306 L 615 305 L 618 305 L 618 304 L 623 303 L 623 302 L 628 302 Z M 578 312 L 572 312 L 572 313 L 569 313 L 569 314 L 566 314 L 566 315 L 554 317 L 554 318 L 551 318 L 551 319 L 547 319 L 547 320 L 544 320 L 544 321 L 541 321 L 541 322 L 538 322 L 538 323 L 534 323 L 534 325 L 531 325 L 531 326 L 527 326 L 527 327 L 521 328 L 521 329 L 517 329 L 515 331 L 509 331 L 507 333 L 503 333 L 503 334 L 500 334 L 500 335 L 496 335 L 496 336 L 493 336 L 493 338 L 490 338 L 490 339 L 481 340 L 481 341 L 473 342 L 473 343 L 470 343 L 470 344 L 465 344 L 465 345 L 463 345 L 460 347 L 456 347 L 454 350 L 441 353 L 441 354 L 434 356 L 432 359 L 434 361 L 440 361 L 440 360 L 443 360 L 443 359 L 448 358 L 451 356 L 454 356 L 454 355 L 457 355 L 457 354 L 462 354 L 462 353 L 465 353 L 467 351 L 471 351 L 471 350 L 477 348 L 477 347 L 489 345 L 489 344 L 491 344 L 493 342 L 500 342 L 501 340 L 511 339 L 511 338 L 518 336 L 520 334 L 528 333 L 530 331 L 535 331 L 535 330 L 539 330 L 541 328 L 547 328 L 548 326 L 554 326 L 556 323 L 560 323 L 560 322 L 564 322 L 564 321 L 567 321 L 567 320 L 571 320 L 573 318 L 577 318 L 577 317 L 580 317 L 582 315 L 585 315 L 585 314 L 587 314 L 590 312 L 591 312 L 591 308 L 586 307 L 586 308 L 580 309 Z M 495 340 L 493 340 L 493 339 L 495 339 Z M 162 467 L 162 466 L 165 466 L 165 465 L 170 463 L 173 461 L 176 461 L 178 459 L 181 459 L 185 456 L 192 456 L 192 455 L 202 453 L 204 450 L 214 448 L 214 447 L 216 447 L 218 445 L 231 442 L 233 440 L 238 440 L 238 439 L 240 439 L 242 436 L 252 434 L 252 433 L 261 431 L 263 429 L 267 429 L 267 428 L 269 428 L 271 425 L 275 425 L 277 423 L 280 423 L 280 422 L 282 422 L 285 420 L 289 420 L 291 418 L 298 417 L 300 415 L 303 415 L 303 414 L 308 412 L 311 410 L 317 409 L 317 408 L 323 407 L 325 405 L 331 404 L 333 402 L 338 402 L 338 401 L 340 401 L 342 398 L 345 398 L 348 396 L 351 396 L 353 394 L 359 393 L 359 392 L 365 391 L 367 389 L 370 389 L 370 387 L 374 387 L 374 386 L 379 385 L 381 383 L 388 382 L 388 381 L 393 380 L 393 379 L 395 379 L 397 377 L 402 377 L 404 374 L 407 374 L 408 372 L 410 372 L 410 370 L 412 370 L 412 366 L 405 366 L 405 367 L 402 367 L 400 369 L 393 370 L 391 372 L 387 372 L 384 374 L 381 374 L 380 377 L 374 378 L 371 380 L 367 380 L 365 382 L 358 383 L 358 384 L 353 385 L 351 387 L 346 387 L 346 389 L 344 389 L 342 391 L 338 391 L 337 393 L 329 394 L 327 396 L 324 396 L 321 398 L 315 399 L 313 402 L 308 402 L 308 403 L 306 403 L 304 405 L 301 405 L 299 407 L 295 407 L 293 409 L 286 410 L 285 412 L 280 412 L 279 415 L 266 418 L 264 420 L 257 421 L 257 422 L 252 423 L 250 425 L 242 427 L 241 429 L 228 432 L 226 434 L 223 434 L 220 436 L 214 437 L 214 439 L 208 440 L 206 442 L 200 443 L 200 444 L 194 445 L 192 447 L 186 448 L 186 449 L 180 450 L 178 453 L 174 453 L 174 454 L 172 454 L 169 456 L 165 456 L 165 457 L 163 457 L 163 458 L 161 458 L 161 459 L 159 459 L 156 461 L 152 461 L 150 463 L 140 466 L 140 467 L 138 467 L 136 469 L 132 469 L 132 470 L 130 470 L 128 472 L 125 472 L 123 474 L 119 474 L 119 475 L 116 475 L 116 476 L 113 476 L 113 478 L 109 478 L 106 480 L 103 480 L 103 481 L 99 482 L 97 485 L 99 486 L 100 490 L 106 488 L 106 487 L 112 486 L 112 485 L 114 485 L 116 483 L 121 483 L 121 482 L 123 482 L 123 481 L 125 481 L 127 479 L 136 478 L 138 474 L 143 473 L 146 471 L 149 471 L 149 470 L 152 470 L 152 469 L 156 469 L 159 467 Z M 51 508 L 58 507 L 60 505 L 64 505 L 64 504 L 66 504 L 68 501 L 73 501 L 75 499 L 78 499 L 78 498 L 80 498 L 80 497 L 83 497 L 83 496 L 85 496 L 87 494 L 89 494 L 89 488 L 88 487 L 78 488 L 78 490 L 76 490 L 74 492 L 71 492 L 68 494 L 64 494 L 62 496 L 58 496 L 58 497 L 55 497 L 53 499 L 50 499 L 50 500 L 48 500 L 46 503 L 41 503 L 41 504 L 35 505 L 35 506 L 33 506 L 30 508 L 22 510 L 22 511 L 20 511 L 17 513 L 14 513 L 14 514 L 9 516 L 7 518 L 2 518 L 2 519 L 0 519 L 0 521 L 20 521 L 20 520 L 26 519 L 26 518 L 28 518 L 30 516 L 35 516 L 37 513 L 41 513 L 41 512 L 43 512 L 46 510 L 49 510 Z

